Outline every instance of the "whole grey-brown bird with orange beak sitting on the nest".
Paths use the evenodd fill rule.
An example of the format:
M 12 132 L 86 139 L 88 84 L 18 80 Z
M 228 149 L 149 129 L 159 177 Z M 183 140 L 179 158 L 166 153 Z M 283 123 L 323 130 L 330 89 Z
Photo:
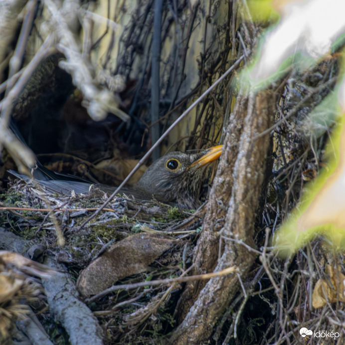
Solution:
M 221 150 L 222 145 L 218 145 L 196 154 L 171 152 L 154 162 L 133 187 L 122 188 L 121 193 L 137 200 L 155 198 L 178 207 L 196 208 L 200 204 L 197 192 L 204 170 L 202 168 L 219 158 Z M 90 190 L 90 182 L 42 168 L 39 166 L 34 170 L 33 176 L 49 191 L 70 193 L 74 190 L 76 193 L 87 193 Z M 17 172 L 10 172 L 19 178 L 28 179 Z M 115 190 L 115 187 L 101 184 L 95 187 L 104 192 Z

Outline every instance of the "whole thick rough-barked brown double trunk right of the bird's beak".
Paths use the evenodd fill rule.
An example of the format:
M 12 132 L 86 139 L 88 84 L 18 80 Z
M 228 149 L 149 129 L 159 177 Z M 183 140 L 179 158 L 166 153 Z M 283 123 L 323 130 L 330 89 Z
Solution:
M 240 131 L 243 126 L 243 131 L 240 134 L 239 131 L 228 131 L 226 136 L 226 149 L 214 181 L 203 233 L 196 247 L 194 263 L 198 272 L 212 270 L 214 266 L 214 271 L 220 271 L 235 265 L 244 281 L 255 260 L 255 256 L 242 244 L 226 240 L 218 259 L 218 244 L 222 235 L 254 246 L 255 211 L 270 142 L 268 134 L 255 137 L 271 126 L 274 106 L 275 96 L 271 91 L 263 91 L 256 96 L 243 96 L 238 100 L 231 116 L 232 121 L 238 121 L 230 122 L 229 129 L 233 131 L 235 126 L 239 126 Z M 233 138 L 238 137 L 237 150 L 234 150 L 231 144 Z M 236 153 L 237 158 L 234 156 Z M 170 342 L 182 345 L 206 341 L 238 286 L 235 274 L 212 278 L 205 286 L 189 286 L 189 294 L 183 296 L 180 305 L 190 305 L 194 296 L 198 295 L 198 298 L 173 332 Z

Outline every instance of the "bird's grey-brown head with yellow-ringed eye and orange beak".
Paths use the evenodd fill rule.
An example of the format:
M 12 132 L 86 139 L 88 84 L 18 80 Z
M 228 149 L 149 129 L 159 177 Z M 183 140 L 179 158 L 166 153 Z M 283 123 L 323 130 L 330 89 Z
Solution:
M 202 168 L 215 161 L 221 149 L 222 145 L 218 145 L 196 154 L 171 152 L 154 162 L 135 188 L 147 198 L 154 196 L 158 201 L 196 208 Z

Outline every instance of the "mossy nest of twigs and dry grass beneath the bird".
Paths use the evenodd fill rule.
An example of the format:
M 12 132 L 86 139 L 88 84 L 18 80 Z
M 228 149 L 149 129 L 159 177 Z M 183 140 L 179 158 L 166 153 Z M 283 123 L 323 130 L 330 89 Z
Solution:
M 105 195 L 102 192 L 99 194 L 103 196 L 61 197 L 46 194 L 35 183 L 17 181 L 2 195 L 2 202 L 9 207 L 12 205 L 13 209 L 1 222 L 6 228 L 14 224 L 14 232 L 25 238 L 27 248 L 36 247 L 39 243 L 40 250 L 34 256 L 35 260 L 42 260 L 42 253 L 53 257 L 56 260 L 54 265 L 66 265 L 75 281 L 81 269 L 128 236 L 133 238 L 136 234 L 143 234 L 140 236 L 143 238 L 147 234 L 150 243 L 156 238 L 158 242 L 167 240 L 167 245 L 162 248 L 157 243 L 158 247 L 145 247 L 140 253 L 135 247 L 140 243 L 128 242 L 122 252 L 116 250 L 117 255 L 112 257 L 113 264 L 118 267 L 123 265 L 118 276 L 124 278 L 116 283 L 120 289 L 114 289 L 114 292 L 100 298 L 92 298 L 89 302 L 106 331 L 109 344 L 132 343 L 138 334 L 143 333 L 140 337 L 144 339 L 146 332 L 156 330 L 159 334 L 167 327 L 172 328 L 172 300 L 176 299 L 181 285 L 150 286 L 149 282 L 179 277 L 190 266 L 193 242 L 201 229 L 202 209 L 188 212 L 158 202 L 138 203 L 116 197 L 88 226 L 80 228 L 79 225 L 104 199 Z M 14 210 L 19 205 L 22 213 Z M 165 236 L 162 237 L 162 234 Z M 57 243 L 60 235 L 65 242 L 63 247 Z M 93 277 L 92 283 L 101 286 L 104 279 L 101 272 L 98 277 Z M 145 281 L 148 286 L 138 284 L 136 287 L 137 282 Z M 134 286 L 127 289 L 122 288 L 123 284 Z M 45 324 L 51 318 L 51 312 L 41 316 Z

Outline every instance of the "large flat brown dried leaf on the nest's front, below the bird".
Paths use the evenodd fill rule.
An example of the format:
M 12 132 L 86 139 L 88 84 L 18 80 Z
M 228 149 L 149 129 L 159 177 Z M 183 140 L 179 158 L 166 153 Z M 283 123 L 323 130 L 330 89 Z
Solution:
M 175 242 L 157 233 L 139 233 L 126 237 L 81 271 L 77 281 L 80 294 L 85 297 L 96 295 L 119 279 L 144 272 Z

